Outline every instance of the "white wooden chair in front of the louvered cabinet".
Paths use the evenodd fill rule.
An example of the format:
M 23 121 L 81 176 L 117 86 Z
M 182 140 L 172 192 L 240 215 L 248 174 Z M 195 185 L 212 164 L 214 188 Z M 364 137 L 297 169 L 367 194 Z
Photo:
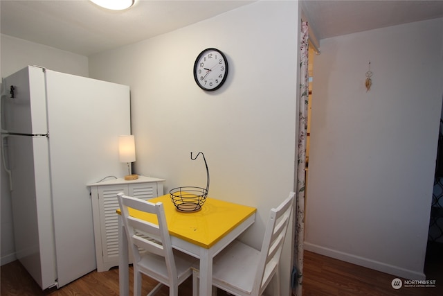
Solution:
M 169 295 L 179 295 L 179 285 L 192 275 L 191 266 L 198 259 L 172 250 L 163 204 L 141 200 L 118 193 L 118 204 L 125 232 L 134 255 L 134 295 L 141 295 L 141 274 L 159 284 L 148 294 L 154 295 L 161 286 L 169 286 Z M 128 208 L 157 216 L 159 225 L 129 216 Z M 145 251 L 145 252 L 143 252 Z

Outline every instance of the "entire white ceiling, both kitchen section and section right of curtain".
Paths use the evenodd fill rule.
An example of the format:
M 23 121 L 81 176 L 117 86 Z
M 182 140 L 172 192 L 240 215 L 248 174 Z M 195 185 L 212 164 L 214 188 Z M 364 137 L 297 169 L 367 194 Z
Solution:
M 91 55 L 195 24 L 253 1 L 136 0 L 114 12 L 88 0 L 0 0 L 1 33 Z M 321 40 L 373 28 L 443 17 L 443 0 L 302 0 L 304 16 Z

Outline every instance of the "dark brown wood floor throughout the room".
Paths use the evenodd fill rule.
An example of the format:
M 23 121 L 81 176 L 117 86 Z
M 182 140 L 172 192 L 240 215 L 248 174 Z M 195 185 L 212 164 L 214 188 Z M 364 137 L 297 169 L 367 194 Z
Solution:
M 443 253 L 435 252 L 435 258 L 431 258 L 433 254 L 428 254 L 433 260 L 431 260 L 431 264 L 428 264 L 426 267 L 428 269 L 426 275 L 428 279 L 436 280 L 435 288 L 402 287 L 399 290 L 395 290 L 391 286 L 392 279 L 395 279 L 393 275 L 306 251 L 303 295 L 441 296 L 443 295 L 443 256 L 441 254 Z M 437 272 L 437 270 L 440 270 L 440 272 Z M 132 279 L 132 268 L 130 269 L 129 276 Z M 113 296 L 118 295 L 118 268 L 112 268 L 107 272 L 93 271 L 58 290 L 52 288 L 41 291 L 21 264 L 18 263 L 18 261 L 14 261 L 1 266 L 0 284 L 1 296 Z M 143 295 L 146 295 L 155 284 L 156 282 L 152 279 L 143 277 Z M 132 295 L 132 281 L 130 285 L 129 293 Z M 157 295 L 168 296 L 168 287 L 163 287 Z M 192 295 L 192 281 L 190 279 L 180 286 L 179 295 Z M 219 291 L 218 295 L 226 294 Z

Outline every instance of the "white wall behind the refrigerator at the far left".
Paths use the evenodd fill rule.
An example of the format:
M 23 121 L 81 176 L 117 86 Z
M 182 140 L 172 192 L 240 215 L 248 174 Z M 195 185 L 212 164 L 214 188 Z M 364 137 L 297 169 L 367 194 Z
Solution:
M 0 35 L 1 77 L 9 76 L 28 65 L 39 65 L 54 71 L 88 76 L 88 59 L 85 56 L 60 51 L 53 47 Z M 0 159 L 1 162 L 1 159 Z M 14 236 L 12 232 L 12 209 L 10 204 L 9 180 L 3 164 L 1 172 L 1 265 L 15 260 Z

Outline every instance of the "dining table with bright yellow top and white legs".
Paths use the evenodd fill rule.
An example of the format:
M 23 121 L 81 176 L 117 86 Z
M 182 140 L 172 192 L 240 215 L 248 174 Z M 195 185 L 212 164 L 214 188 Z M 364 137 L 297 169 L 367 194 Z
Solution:
M 170 195 L 152 198 L 149 202 L 163 202 L 172 247 L 200 259 L 200 295 L 211 295 L 213 258 L 254 223 L 254 207 L 206 198 L 201 210 L 193 213 L 177 211 Z M 120 210 L 117 210 L 120 214 Z M 152 214 L 129 209 L 136 218 L 157 223 Z M 119 218 L 119 281 L 120 296 L 129 295 L 128 241 Z

